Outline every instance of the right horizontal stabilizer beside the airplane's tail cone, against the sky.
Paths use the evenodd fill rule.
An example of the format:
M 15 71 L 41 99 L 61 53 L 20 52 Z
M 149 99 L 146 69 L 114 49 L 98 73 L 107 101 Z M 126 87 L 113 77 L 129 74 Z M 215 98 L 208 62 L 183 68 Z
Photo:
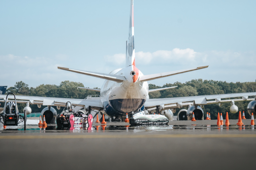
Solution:
M 142 75 L 142 76 L 139 77 L 139 81 L 155 80 L 155 79 L 159 79 L 159 78 L 163 78 L 163 77 L 167 77 L 167 76 L 171 76 L 171 75 L 178 75 L 178 74 L 186 73 L 186 72 L 189 72 L 189 71 L 204 69 L 204 68 L 207 68 L 207 67 L 208 67 L 208 65 L 203 66 L 203 67 L 197 67 L 197 68 L 194 68 L 194 69 L 169 71 L 169 72 L 158 73 L 158 74 L 153 74 L 153 75 Z

